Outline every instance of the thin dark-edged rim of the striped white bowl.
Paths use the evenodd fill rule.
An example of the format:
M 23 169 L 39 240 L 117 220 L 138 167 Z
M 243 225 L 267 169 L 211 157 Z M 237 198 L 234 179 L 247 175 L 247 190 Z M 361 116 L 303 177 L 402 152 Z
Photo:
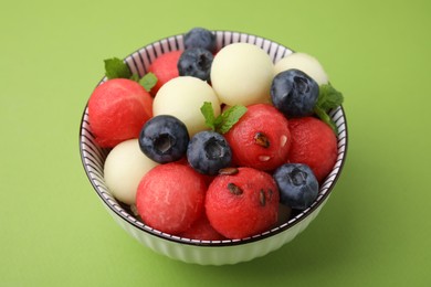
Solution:
M 287 50 L 294 52 L 293 50 L 288 49 L 287 46 L 285 46 L 283 44 L 280 44 L 280 43 L 277 43 L 275 41 L 272 41 L 270 39 L 262 38 L 262 36 L 259 36 L 259 35 L 250 34 L 250 33 L 243 33 L 243 32 L 238 32 L 238 31 L 228 31 L 228 30 L 214 30 L 212 32 L 214 34 L 217 34 L 217 33 L 223 33 L 223 34 L 224 33 L 232 33 L 232 34 L 233 33 L 239 33 L 239 34 L 246 35 L 246 36 L 255 36 L 255 38 L 259 38 L 259 39 L 261 39 L 263 41 L 265 41 L 265 40 L 270 41 L 270 43 L 274 43 L 274 44 L 276 44 L 278 46 L 282 46 L 284 49 L 287 49 Z M 154 42 L 151 42 L 149 44 L 146 44 L 146 45 L 141 46 L 140 49 L 136 50 L 135 52 L 128 54 L 124 60 L 126 60 L 128 57 L 132 57 L 133 54 L 135 54 L 135 53 L 137 53 L 137 52 L 139 52 L 141 50 L 145 50 L 145 49 L 147 49 L 149 46 L 154 46 L 156 43 L 160 43 L 164 40 L 168 40 L 168 39 L 172 39 L 172 38 L 177 38 L 177 36 L 182 36 L 182 35 L 183 34 L 176 34 L 176 35 L 171 35 L 171 36 L 167 36 L 167 38 L 162 38 L 160 40 L 154 41 Z M 176 41 L 178 39 L 176 39 Z M 106 79 L 106 77 L 103 77 L 98 82 L 97 85 L 103 83 L 105 79 Z M 133 225 L 135 228 L 138 228 L 139 231 L 145 232 L 148 235 L 157 236 L 157 237 L 159 237 L 161 240 L 166 240 L 166 241 L 169 241 L 169 242 L 172 242 L 172 243 L 177 243 L 177 244 L 186 244 L 186 245 L 200 246 L 200 247 L 225 247 L 225 246 L 244 245 L 244 244 L 248 244 L 248 243 L 263 241 L 263 240 L 266 240 L 269 237 L 272 237 L 274 235 L 277 235 L 277 234 L 281 234 L 283 232 L 286 232 L 286 231 L 291 230 L 293 226 L 295 226 L 296 224 L 301 223 L 302 221 L 304 221 L 305 219 L 311 216 L 328 199 L 329 194 L 332 193 L 333 189 L 335 188 L 335 184 L 337 183 L 337 181 L 338 181 L 338 179 L 339 179 L 339 177 L 341 174 L 341 171 L 343 171 L 345 162 L 346 162 L 346 157 L 347 157 L 347 150 L 348 150 L 348 125 L 347 125 L 347 118 L 346 118 L 346 114 L 345 114 L 344 107 L 343 107 L 343 105 L 340 105 L 336 109 L 333 109 L 332 113 L 335 114 L 335 113 L 340 111 L 340 116 L 337 118 L 337 120 L 339 120 L 340 118 L 343 119 L 341 125 L 339 125 L 339 126 L 344 126 L 344 129 L 343 130 L 338 130 L 338 135 L 337 135 L 337 152 L 338 152 L 338 155 L 340 155 L 339 141 L 344 139 L 344 144 L 341 146 L 344 148 L 343 156 L 340 158 L 337 158 L 337 160 L 335 162 L 334 168 L 338 163 L 337 172 L 335 173 L 335 177 L 330 180 L 329 183 L 327 183 L 328 178 L 334 172 L 334 168 L 333 168 L 333 170 L 329 172 L 327 178 L 322 182 L 322 184 L 319 184 L 319 194 L 318 194 L 317 199 L 313 202 L 313 204 L 309 208 L 298 212 L 298 214 L 296 214 L 295 216 L 291 217 L 286 223 L 283 223 L 283 224 L 281 224 L 278 226 L 272 227 L 269 231 L 265 231 L 263 233 L 259 233 L 256 235 L 249 236 L 249 237 L 245 237 L 245 238 L 240 238 L 240 240 L 221 240 L 221 241 L 191 240 L 191 238 L 186 238 L 186 237 L 181 237 L 181 236 L 178 236 L 178 235 L 172 235 L 172 234 L 168 234 L 168 233 L 155 230 L 155 228 L 146 225 L 141 221 L 139 221 L 134 214 L 129 214 L 128 211 L 126 211 L 120 203 L 112 204 L 108 201 L 108 199 L 103 196 L 103 194 L 101 193 L 101 191 L 98 189 L 98 185 L 96 184 L 96 182 L 94 182 L 94 180 L 91 177 L 92 171 L 87 168 L 87 164 L 85 162 L 86 160 L 88 160 L 88 158 L 86 158 L 84 156 L 84 144 L 83 144 L 83 140 L 82 140 L 83 137 L 84 137 L 84 130 L 85 130 L 85 132 L 91 134 L 93 136 L 92 131 L 84 127 L 84 123 L 86 121 L 85 117 L 87 116 L 87 109 L 88 109 L 88 99 L 86 102 L 86 105 L 85 105 L 84 110 L 83 110 L 82 116 L 81 116 L 80 132 L 78 132 L 78 145 L 80 145 L 81 162 L 82 162 L 82 166 L 84 168 L 85 174 L 86 174 L 88 181 L 91 182 L 94 191 L 96 192 L 98 198 L 103 201 L 103 203 L 107 208 L 109 208 L 109 210 L 113 211 L 114 214 L 117 215 L 117 217 L 122 219 L 127 224 Z M 337 121 L 337 120 L 335 120 L 335 121 Z M 86 123 L 86 124 L 90 125 L 88 123 Z M 343 136 L 343 138 L 339 138 L 341 132 L 344 132 L 345 135 Z M 102 150 L 104 150 L 105 152 L 108 152 L 111 149 L 102 148 Z M 107 153 L 105 156 L 107 156 Z M 326 191 L 324 192 L 324 194 L 320 194 L 320 191 L 322 191 L 323 187 L 326 185 L 326 184 L 329 184 L 329 185 L 326 187 Z M 113 198 L 113 200 L 116 201 L 114 198 Z M 117 208 L 119 208 L 119 210 Z M 123 211 L 123 212 L 120 212 L 120 211 Z M 127 215 L 124 214 L 124 213 L 126 213 Z M 134 220 L 132 220 L 130 217 L 133 217 Z

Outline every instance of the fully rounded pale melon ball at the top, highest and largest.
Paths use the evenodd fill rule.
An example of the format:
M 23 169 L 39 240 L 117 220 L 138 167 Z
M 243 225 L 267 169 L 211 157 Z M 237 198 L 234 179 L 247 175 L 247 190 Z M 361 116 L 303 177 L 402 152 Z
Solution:
M 265 51 L 249 43 L 224 46 L 214 56 L 211 85 L 227 105 L 267 103 L 274 64 Z

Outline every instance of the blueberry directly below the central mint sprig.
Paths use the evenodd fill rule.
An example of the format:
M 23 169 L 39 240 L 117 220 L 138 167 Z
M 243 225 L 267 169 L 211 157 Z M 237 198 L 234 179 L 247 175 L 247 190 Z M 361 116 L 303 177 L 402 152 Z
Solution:
M 224 137 L 216 131 L 196 134 L 187 148 L 187 160 L 200 173 L 216 176 L 232 161 L 232 151 Z

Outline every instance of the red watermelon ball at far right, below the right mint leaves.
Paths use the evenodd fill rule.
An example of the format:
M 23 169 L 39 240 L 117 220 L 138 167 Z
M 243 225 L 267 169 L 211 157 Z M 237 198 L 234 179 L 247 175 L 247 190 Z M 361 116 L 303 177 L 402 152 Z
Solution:
M 287 162 L 307 164 L 322 182 L 337 160 L 337 138 L 333 129 L 315 117 L 288 121 L 292 145 Z

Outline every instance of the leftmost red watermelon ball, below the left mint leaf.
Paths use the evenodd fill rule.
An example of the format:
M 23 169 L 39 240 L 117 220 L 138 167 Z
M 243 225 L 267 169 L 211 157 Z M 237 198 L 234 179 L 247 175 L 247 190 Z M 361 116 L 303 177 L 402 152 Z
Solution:
M 101 147 L 138 138 L 153 117 L 153 97 L 138 83 L 113 78 L 98 85 L 88 99 L 88 121 Z

